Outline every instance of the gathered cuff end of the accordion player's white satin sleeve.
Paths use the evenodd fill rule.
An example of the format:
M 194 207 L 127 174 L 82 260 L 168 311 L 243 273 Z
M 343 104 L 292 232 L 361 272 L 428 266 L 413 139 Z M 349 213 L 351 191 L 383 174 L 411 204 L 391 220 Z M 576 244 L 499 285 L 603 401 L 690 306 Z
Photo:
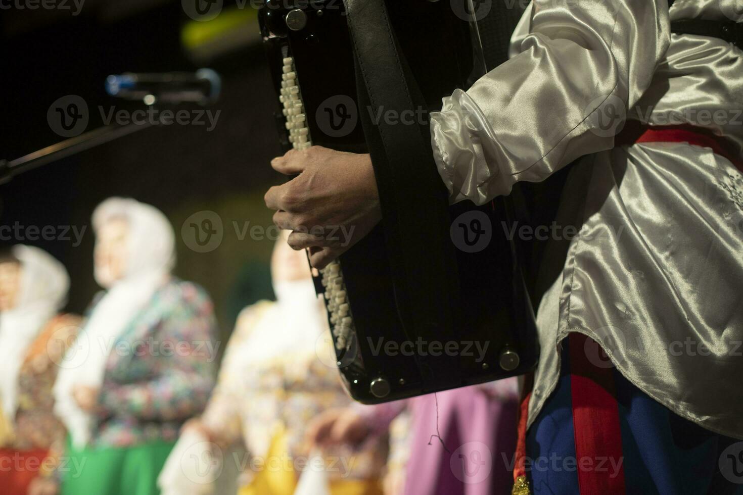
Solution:
M 443 99 L 441 111 L 432 112 L 431 145 L 450 204 L 472 200 L 482 205 L 510 192 L 499 180 L 493 160 L 495 134 L 475 100 L 461 89 Z

